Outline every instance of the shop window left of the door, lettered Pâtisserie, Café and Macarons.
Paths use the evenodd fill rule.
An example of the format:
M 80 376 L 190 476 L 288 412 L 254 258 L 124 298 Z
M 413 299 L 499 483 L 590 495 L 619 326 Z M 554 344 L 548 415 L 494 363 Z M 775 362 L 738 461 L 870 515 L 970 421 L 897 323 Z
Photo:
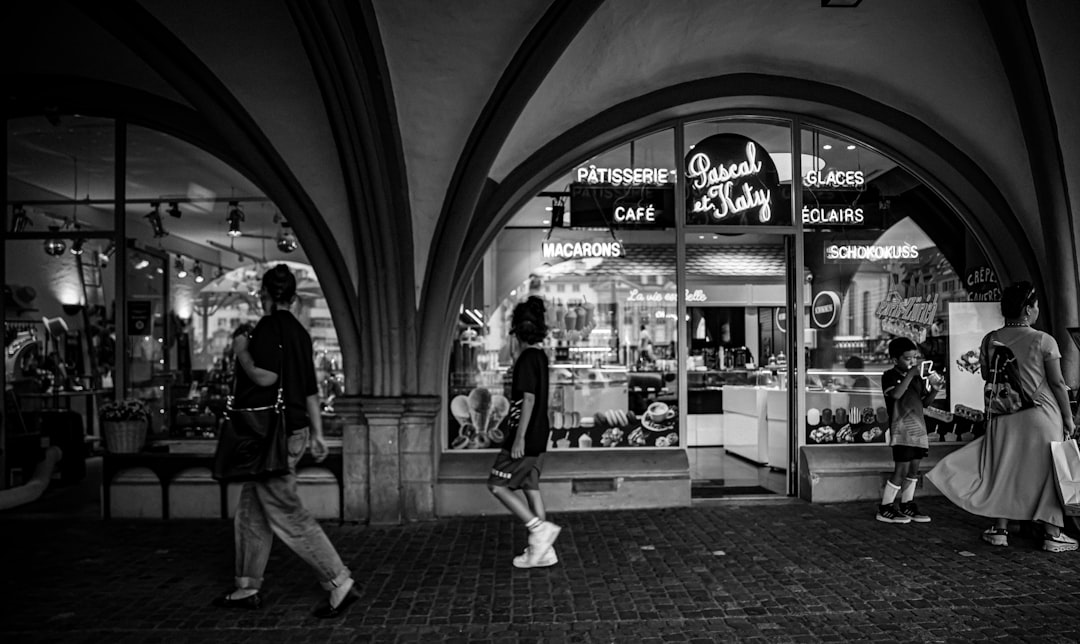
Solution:
M 679 444 L 674 134 L 597 155 L 514 215 L 458 317 L 449 450 L 497 448 L 511 397 L 511 316 L 545 303 L 550 450 Z

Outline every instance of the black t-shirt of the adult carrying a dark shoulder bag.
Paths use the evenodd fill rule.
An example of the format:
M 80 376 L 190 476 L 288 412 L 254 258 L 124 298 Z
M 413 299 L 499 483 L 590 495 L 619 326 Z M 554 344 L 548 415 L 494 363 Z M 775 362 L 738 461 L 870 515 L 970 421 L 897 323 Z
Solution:
M 274 311 L 264 316 L 252 331 L 247 351 L 255 366 L 275 374 L 284 374 L 282 381 L 285 399 L 285 427 L 289 431 L 311 425 L 308 419 L 307 398 L 319 393 L 315 364 L 312 361 L 311 336 L 299 320 L 288 311 Z M 237 365 L 237 407 L 272 405 L 278 399 L 278 383 L 259 387 Z

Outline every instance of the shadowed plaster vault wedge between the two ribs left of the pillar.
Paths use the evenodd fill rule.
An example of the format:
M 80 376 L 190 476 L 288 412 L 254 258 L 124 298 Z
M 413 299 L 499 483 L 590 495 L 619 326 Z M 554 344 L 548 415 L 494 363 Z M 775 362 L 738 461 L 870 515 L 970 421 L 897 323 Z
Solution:
M 353 285 L 353 213 L 308 55 L 281 0 L 143 0 L 225 83 L 288 164 L 338 241 Z M 264 186 L 265 190 L 266 187 Z M 283 213 L 286 217 L 289 213 Z

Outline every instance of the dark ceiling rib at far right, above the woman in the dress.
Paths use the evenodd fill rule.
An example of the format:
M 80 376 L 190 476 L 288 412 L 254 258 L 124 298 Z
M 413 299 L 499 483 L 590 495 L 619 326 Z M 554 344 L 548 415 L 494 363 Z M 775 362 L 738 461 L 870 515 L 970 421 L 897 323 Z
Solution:
M 1065 328 L 1076 326 L 1080 320 L 1080 290 L 1066 291 L 1068 284 L 1080 284 L 1080 231 L 1070 205 L 1061 130 L 1039 43 L 1024 0 L 982 0 L 980 5 L 1009 79 L 1027 146 L 1037 214 L 1042 224 L 1042 243 L 1047 250 L 1044 287 L 1047 293 L 1058 294 L 1043 298 L 1042 306 L 1049 311 L 1047 317 L 1052 321 L 1052 328 L 1064 339 Z M 1068 341 L 1059 345 L 1072 365 L 1063 371 L 1070 379 L 1069 385 L 1076 387 L 1076 364 L 1080 362 L 1077 348 Z

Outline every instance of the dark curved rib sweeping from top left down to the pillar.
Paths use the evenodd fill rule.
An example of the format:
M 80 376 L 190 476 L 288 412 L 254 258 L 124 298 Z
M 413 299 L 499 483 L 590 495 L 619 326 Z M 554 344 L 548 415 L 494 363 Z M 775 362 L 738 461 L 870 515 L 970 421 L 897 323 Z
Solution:
M 311 197 L 243 105 L 188 46 L 135 0 L 68 0 L 150 66 L 202 115 L 303 244 L 334 318 L 345 379 L 360 381 L 360 322 L 352 278 Z M 351 386 L 350 386 L 351 387 Z

